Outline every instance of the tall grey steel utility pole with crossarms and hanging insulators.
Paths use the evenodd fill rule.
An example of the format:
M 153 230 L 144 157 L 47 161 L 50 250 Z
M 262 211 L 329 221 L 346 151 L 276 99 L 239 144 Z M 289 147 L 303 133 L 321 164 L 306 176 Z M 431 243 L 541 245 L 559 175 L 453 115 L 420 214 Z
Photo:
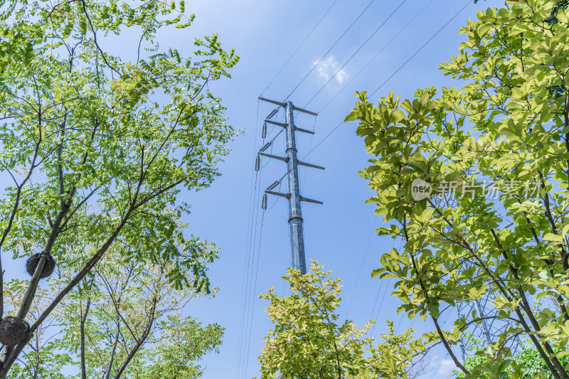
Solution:
M 259 97 L 260 100 L 265 102 L 270 102 L 272 104 L 278 105 L 280 107 L 285 108 L 286 112 L 286 124 L 282 124 L 281 122 L 272 121 L 271 118 L 277 114 L 277 110 L 271 112 L 271 114 L 265 119 L 265 124 L 263 124 L 263 138 L 266 137 L 266 124 L 273 124 L 279 127 L 285 128 L 285 138 L 286 138 L 286 157 L 282 156 L 275 156 L 271 154 L 266 154 L 264 151 L 267 150 L 272 142 L 268 142 L 265 146 L 262 146 L 260 151 L 257 155 L 257 162 L 255 165 L 255 169 L 260 168 L 260 156 L 266 156 L 272 159 L 278 159 L 280 161 L 285 161 L 287 163 L 287 182 L 288 182 L 288 193 L 279 193 L 272 191 L 275 187 L 280 184 L 279 181 L 275 181 L 272 183 L 265 194 L 263 195 L 262 199 L 262 208 L 267 208 L 267 194 L 274 195 L 274 196 L 281 196 L 283 198 L 287 198 L 289 203 L 289 235 L 290 235 L 290 259 L 291 259 L 291 267 L 293 269 L 299 269 L 302 274 L 306 274 L 307 272 L 307 262 L 306 256 L 304 253 L 304 230 L 303 230 L 303 222 L 302 219 L 302 201 L 308 203 L 317 203 L 322 204 L 321 201 L 312 200 L 309 198 L 304 198 L 300 194 L 300 181 L 298 175 L 298 166 L 307 166 L 312 167 L 313 169 L 321 169 L 324 170 L 324 167 L 316 166 L 314 164 L 308 164 L 298 160 L 298 150 L 297 150 L 297 135 L 296 132 L 303 132 L 308 134 L 314 134 L 307 129 L 301 129 L 294 124 L 294 114 L 293 111 L 304 112 L 307 114 L 312 114 L 317 116 L 317 113 L 310 112 L 308 110 L 303 110 L 299 107 L 294 107 L 292 102 L 277 102 L 275 100 L 265 99 L 263 97 Z M 284 177 L 283 177 L 284 178 Z

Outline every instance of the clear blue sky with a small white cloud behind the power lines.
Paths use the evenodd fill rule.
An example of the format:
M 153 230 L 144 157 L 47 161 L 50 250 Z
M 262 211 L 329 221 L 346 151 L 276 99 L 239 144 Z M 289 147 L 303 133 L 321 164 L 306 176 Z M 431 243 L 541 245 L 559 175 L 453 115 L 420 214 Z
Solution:
M 188 13 L 196 14 L 193 27 L 160 35 L 161 48 L 173 46 L 181 52 L 189 53 L 193 50 L 194 37 L 218 33 L 222 45 L 225 48 L 234 47 L 241 58 L 231 72 L 233 78 L 211 85 L 211 90 L 223 98 L 223 103 L 228 108 L 230 124 L 242 128 L 244 133 L 231 144 L 232 151 L 220 166 L 223 176 L 218 178 L 211 188 L 200 193 L 187 194 L 187 198 L 183 199 L 192 204 L 193 210 L 187 219 L 190 223 L 188 231 L 215 242 L 222 250 L 220 260 L 211 267 L 213 283 L 220 287 L 219 294 L 213 300 L 195 301 L 187 310 L 188 314 L 204 322 L 218 322 L 227 329 L 220 354 L 211 354 L 203 361 L 207 366 L 205 378 L 238 377 L 253 157 L 255 151 L 261 147 L 262 119 L 275 108 L 267 103 L 257 102 L 257 97 L 333 1 L 187 1 Z M 265 97 L 283 100 L 314 67 L 314 63 L 336 38 L 366 8 L 369 1 L 338 0 L 297 55 L 265 91 Z M 299 107 L 304 107 L 329 80 L 330 75 L 344 64 L 400 2 L 374 1 L 289 100 Z M 307 114 L 297 116 L 297 126 L 304 129 L 316 128 L 312 142 L 309 135 L 298 135 L 299 156 L 304 156 L 311 146 L 315 146 L 344 119 L 356 102 L 353 92 L 376 90 L 435 31 L 467 4 L 467 0 L 433 0 L 432 5 L 385 48 L 376 60 L 369 63 L 426 3 L 427 0 L 406 0 L 395 16 L 353 57 L 340 75 L 321 90 L 307 108 L 321 110 L 352 80 L 346 89 L 334 97 L 316 119 Z M 467 6 L 435 40 L 393 76 L 374 95 L 373 100 L 377 101 L 389 90 L 395 90 L 403 97 L 410 97 L 418 87 L 451 85 L 450 79 L 445 78 L 438 70 L 438 63 L 457 53 L 457 46 L 464 39 L 458 34 L 459 27 L 466 24 L 467 18 L 474 17 L 478 9 L 501 4 L 503 1 L 487 0 Z M 132 48 L 134 49 L 134 46 Z M 356 77 L 368 63 L 366 70 Z M 282 120 L 283 114 L 284 112 L 279 112 L 277 118 Z M 368 322 L 371 317 L 378 319 L 378 325 L 373 331 L 374 337 L 378 337 L 385 330 L 385 319 L 395 321 L 400 332 L 408 329 L 412 322 L 413 328 L 418 331 L 430 330 L 430 323 L 424 323 L 420 319 L 410 321 L 406 316 L 401 318 L 401 314 L 396 313 L 400 301 L 389 296 L 392 286 L 389 285 L 388 288 L 388 284 L 382 284 L 379 279 L 370 277 L 371 270 L 379 265 L 380 255 L 392 248 L 393 240 L 389 237 L 378 237 L 373 233 L 375 228 L 381 226 L 381 218 L 373 215 L 373 205 L 366 205 L 366 199 L 373 193 L 367 187 L 366 181 L 357 175 L 358 170 L 366 166 L 371 156 L 366 154 L 363 140 L 356 136 L 355 131 L 356 124 L 343 124 L 306 159 L 313 164 L 326 166 L 325 171 L 300 169 L 303 196 L 324 201 L 324 205 L 303 204 L 307 260 L 317 259 L 326 265 L 326 269 L 332 270 L 334 277 L 343 280 L 344 301 L 340 312 L 344 317 L 359 325 Z M 277 129 L 269 128 L 269 132 L 270 136 L 274 135 Z M 273 154 L 284 154 L 282 135 L 275 140 Z M 261 188 L 266 188 L 286 172 L 283 162 L 265 159 L 262 163 L 264 167 L 260 174 Z M 282 190 L 285 189 L 283 186 Z M 259 245 L 255 247 L 255 257 L 258 252 L 259 260 L 258 272 L 252 277 L 252 285 L 256 277 L 257 293 L 264 292 L 271 286 L 285 293 L 285 282 L 281 277 L 289 267 L 290 260 L 287 203 L 282 198 L 269 198 L 268 204 L 270 209 L 265 212 L 263 218 L 260 242 L 258 237 L 261 213 L 257 219 L 256 243 Z M 12 272 L 17 274 L 23 272 L 23 260 L 10 262 L 7 269 L 14 270 Z M 10 272 L 8 274 L 10 277 Z M 387 293 L 383 297 L 386 289 Z M 257 357 L 262 348 L 261 340 L 271 329 L 270 321 L 263 312 L 266 304 L 256 296 L 254 299 L 254 308 L 249 308 L 252 328 L 245 378 L 258 375 Z M 451 321 L 448 320 L 449 325 Z M 449 377 L 452 363 L 445 357 L 445 351 L 435 349 L 430 358 L 432 370 L 424 378 Z

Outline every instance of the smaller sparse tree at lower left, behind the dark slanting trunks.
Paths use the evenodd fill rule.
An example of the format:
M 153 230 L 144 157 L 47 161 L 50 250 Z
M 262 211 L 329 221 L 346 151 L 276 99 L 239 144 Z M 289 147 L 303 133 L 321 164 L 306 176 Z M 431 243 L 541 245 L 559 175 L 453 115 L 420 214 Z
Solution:
M 169 262 L 124 262 L 112 248 L 92 274 L 66 297 L 33 336 L 33 349 L 11 369 L 13 378 L 199 378 L 196 362 L 217 351 L 223 328 L 203 326 L 182 309 L 202 289 L 173 289 L 164 277 Z M 166 269 L 164 269 L 166 268 Z M 41 311 L 68 274 L 39 289 L 30 313 Z M 61 282 L 61 283 L 60 283 Z M 6 286 L 8 310 L 18 304 L 26 283 Z M 14 301 L 14 302 L 13 302 Z M 54 370 L 54 367 L 56 368 Z

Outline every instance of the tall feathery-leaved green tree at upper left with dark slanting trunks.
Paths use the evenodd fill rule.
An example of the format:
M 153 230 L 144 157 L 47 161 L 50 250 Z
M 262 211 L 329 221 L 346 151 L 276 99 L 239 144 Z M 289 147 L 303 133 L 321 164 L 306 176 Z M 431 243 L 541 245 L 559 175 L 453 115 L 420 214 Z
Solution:
M 208 83 L 229 76 L 238 57 L 216 35 L 196 39 L 188 57 L 158 46 L 158 31 L 190 26 L 193 15 L 182 20 L 184 1 L 1 5 L 0 167 L 12 183 L 0 199 L 0 252 L 39 254 L 16 319 L 0 324 L 18 326 L 19 343 L 0 356 L 5 378 L 38 327 L 112 245 L 131 247 L 128 260 L 169 262 L 164 277 L 177 289 L 209 290 L 205 263 L 213 253 L 179 228 L 189 205 L 176 198 L 219 175 L 216 164 L 235 129 Z M 119 40 L 136 60 L 104 49 L 125 28 L 139 36 Z M 27 328 L 22 320 L 46 262 L 54 261 L 73 275 Z

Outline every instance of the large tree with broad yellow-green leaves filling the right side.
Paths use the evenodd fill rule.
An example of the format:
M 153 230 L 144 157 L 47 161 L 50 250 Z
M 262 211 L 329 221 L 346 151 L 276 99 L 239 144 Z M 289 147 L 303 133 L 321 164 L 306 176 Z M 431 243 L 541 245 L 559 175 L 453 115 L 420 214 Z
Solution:
M 569 378 L 559 353 L 569 336 L 569 13 L 559 5 L 479 11 L 441 65 L 461 87 L 420 89 L 412 100 L 391 92 L 378 106 L 361 92 L 347 117 L 376 157 L 361 175 L 390 224 L 378 233 L 404 242 L 373 275 L 397 280 L 399 310 L 430 319 L 425 343 L 442 343 L 467 378 L 506 373 L 514 338 L 531 343 L 553 378 Z M 484 317 L 509 327 L 467 368 L 452 347 L 480 316 L 450 331 L 439 321 L 482 296 L 497 310 Z

